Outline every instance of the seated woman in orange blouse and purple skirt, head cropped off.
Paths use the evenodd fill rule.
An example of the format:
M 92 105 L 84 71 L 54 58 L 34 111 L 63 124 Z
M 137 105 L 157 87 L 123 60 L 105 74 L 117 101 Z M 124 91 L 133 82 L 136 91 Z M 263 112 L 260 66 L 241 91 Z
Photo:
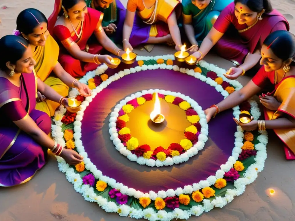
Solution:
M 181 4 L 177 0 L 128 0 L 123 27 L 124 50 L 133 50 L 143 43 L 174 42 L 179 51 L 181 36 L 177 19 L 180 15 Z

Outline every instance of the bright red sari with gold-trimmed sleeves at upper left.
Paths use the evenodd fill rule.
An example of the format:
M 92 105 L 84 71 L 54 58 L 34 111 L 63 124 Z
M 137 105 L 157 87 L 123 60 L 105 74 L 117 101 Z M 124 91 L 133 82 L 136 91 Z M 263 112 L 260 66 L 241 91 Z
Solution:
M 82 35 L 80 38 L 77 37 L 76 33 L 70 32 L 64 25 L 55 25 L 58 18 L 58 13 L 61 10 L 61 0 L 55 0 L 55 7 L 53 14 L 50 15 L 48 19 L 48 30 L 52 33 L 55 40 L 60 46 L 60 53 L 58 61 L 63 66 L 66 72 L 68 72 L 73 77 L 82 77 L 87 72 L 93 71 L 97 68 L 97 64 L 83 62 L 75 57 L 73 57 L 69 52 L 68 48 L 76 42 L 81 50 L 85 50 L 91 54 L 101 54 L 104 48 L 97 42 L 96 38 L 91 40 L 91 36 L 94 32 L 103 31 L 101 26 L 104 14 L 96 11 L 95 9 L 87 8 L 88 13 L 85 15 L 85 20 L 83 22 L 83 27 L 78 25 L 76 32 L 80 33 L 82 29 Z

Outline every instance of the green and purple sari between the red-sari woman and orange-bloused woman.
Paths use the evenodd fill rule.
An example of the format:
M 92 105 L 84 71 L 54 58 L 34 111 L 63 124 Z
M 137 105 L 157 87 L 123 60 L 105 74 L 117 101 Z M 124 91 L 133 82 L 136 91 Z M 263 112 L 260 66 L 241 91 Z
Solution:
M 87 7 L 96 9 L 102 13 L 104 13 L 104 18 L 102 19 L 102 27 L 106 27 L 109 24 L 113 23 L 117 26 L 116 32 L 108 37 L 116 44 L 122 43 L 122 36 L 123 36 L 123 25 L 126 17 L 126 9 L 121 3 L 120 0 L 114 0 L 108 8 L 103 9 L 101 7 L 95 7 L 94 1 L 95 0 L 85 0 Z

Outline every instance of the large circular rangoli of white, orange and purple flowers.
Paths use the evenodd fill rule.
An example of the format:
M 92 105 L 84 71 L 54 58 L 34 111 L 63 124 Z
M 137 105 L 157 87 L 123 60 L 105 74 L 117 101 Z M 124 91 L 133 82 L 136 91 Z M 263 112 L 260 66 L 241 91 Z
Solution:
M 53 137 L 59 144 L 76 150 L 84 157 L 83 162 L 76 166 L 69 166 L 57 157 L 60 171 L 66 174 L 68 181 L 85 200 L 96 202 L 106 212 L 116 212 L 120 216 L 148 220 L 188 219 L 209 212 L 214 207 L 224 207 L 235 196 L 241 195 L 246 185 L 254 182 L 258 172 L 264 168 L 267 133 L 242 131 L 232 121 L 232 116 L 238 118 L 241 111 L 248 111 L 258 119 L 261 113 L 257 103 L 254 100 L 244 102 L 220 113 L 207 124 L 203 121 L 203 110 L 242 88 L 240 83 L 227 80 L 223 76 L 225 70 L 205 61 L 201 61 L 195 69 L 186 69 L 177 66 L 173 55 L 138 56 L 137 60 L 133 65 L 122 64 L 117 69 L 101 65 L 96 71 L 87 73 L 80 81 L 88 83 L 92 89 L 91 96 L 84 100 L 76 90 L 70 92 L 70 96 L 83 101 L 81 110 L 73 114 L 61 106 L 56 111 Z M 167 99 L 166 96 L 162 97 L 165 103 L 172 101 L 169 105 L 174 105 L 173 101 L 179 97 L 189 103 L 188 109 L 196 112 L 186 114 L 188 109 L 182 110 L 179 103 L 175 105 L 179 111 L 183 111 L 184 116 L 194 116 L 180 118 L 179 122 L 186 122 L 197 129 L 188 131 L 191 132 L 188 138 L 184 135 L 187 132 L 185 125 L 184 128 L 175 127 L 176 131 L 179 130 L 177 134 L 186 139 L 185 148 L 177 136 L 167 136 L 171 141 L 178 139 L 175 144 L 182 148 L 177 145 L 178 156 L 172 155 L 174 150 L 166 151 L 164 144 L 165 148 L 158 152 L 163 152 L 158 155 L 161 160 L 157 158 L 158 153 L 154 153 L 157 148 L 135 151 L 142 145 L 150 146 L 153 143 L 152 138 L 145 138 L 148 133 L 142 136 L 142 124 L 136 123 L 138 120 L 134 117 L 148 109 L 145 107 L 148 103 L 143 104 L 140 97 L 153 92 L 158 92 L 160 96 L 169 95 Z M 142 109 L 134 109 L 135 100 Z M 124 108 L 127 112 L 132 109 L 128 113 L 130 122 L 124 121 L 125 124 L 122 121 L 118 123 L 118 118 L 127 114 L 124 105 L 129 107 L 128 110 Z M 132 119 L 135 123 L 131 122 Z M 197 136 L 196 120 L 201 126 L 202 136 Z M 132 150 L 128 150 L 130 146 L 127 141 L 130 139 L 122 140 L 122 136 L 119 137 L 128 134 L 128 129 L 121 131 L 126 127 L 130 127 L 130 139 L 135 137 L 139 140 L 135 149 L 133 146 Z M 159 129 L 157 133 L 160 132 Z M 192 135 L 197 139 L 193 140 Z M 123 153 L 128 159 L 115 148 L 120 153 L 125 148 Z M 153 153 L 148 152 L 152 149 Z M 178 161 L 182 156 L 183 159 Z M 180 162 L 183 163 L 176 165 Z M 153 170 L 139 164 L 165 167 Z

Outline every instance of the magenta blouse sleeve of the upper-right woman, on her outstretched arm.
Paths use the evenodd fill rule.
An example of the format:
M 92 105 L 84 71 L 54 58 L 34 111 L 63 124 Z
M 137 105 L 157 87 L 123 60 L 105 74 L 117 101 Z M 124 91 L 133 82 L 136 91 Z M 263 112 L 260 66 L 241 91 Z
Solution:
M 233 7 L 233 8 L 232 8 Z M 232 15 L 235 13 L 234 4 L 229 4 L 227 7 L 225 7 L 218 18 L 216 19 L 216 22 L 214 23 L 213 27 L 221 32 L 225 33 L 227 29 L 230 27 L 230 24 L 232 24 Z

